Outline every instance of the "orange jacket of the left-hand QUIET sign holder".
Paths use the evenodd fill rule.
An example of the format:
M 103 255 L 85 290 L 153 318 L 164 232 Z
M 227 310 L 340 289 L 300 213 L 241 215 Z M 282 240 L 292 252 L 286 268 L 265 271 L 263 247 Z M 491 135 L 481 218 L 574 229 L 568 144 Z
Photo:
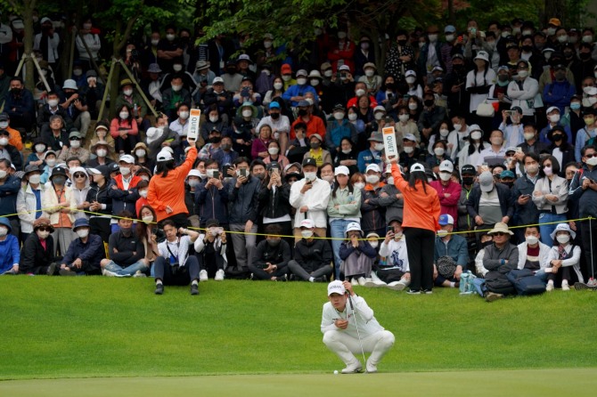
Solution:
M 188 214 L 184 204 L 184 179 L 192 169 L 197 158 L 197 147 L 192 146 L 186 154 L 184 163 L 168 172 L 167 177 L 155 174 L 151 177 L 147 200 L 158 216 L 158 222 L 176 215 Z M 172 213 L 166 213 L 166 207 L 172 208 Z

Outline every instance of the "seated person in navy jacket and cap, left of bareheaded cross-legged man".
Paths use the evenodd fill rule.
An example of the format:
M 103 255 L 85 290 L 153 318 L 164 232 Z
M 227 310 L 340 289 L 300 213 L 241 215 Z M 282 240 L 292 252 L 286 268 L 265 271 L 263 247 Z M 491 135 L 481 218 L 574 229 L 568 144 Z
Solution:
M 90 227 L 87 218 L 78 218 L 72 231 L 77 233 L 78 238 L 72 240 L 69 250 L 62 258 L 60 275 L 99 274 L 100 263 L 106 257 L 102 238 L 95 234 L 89 234 Z

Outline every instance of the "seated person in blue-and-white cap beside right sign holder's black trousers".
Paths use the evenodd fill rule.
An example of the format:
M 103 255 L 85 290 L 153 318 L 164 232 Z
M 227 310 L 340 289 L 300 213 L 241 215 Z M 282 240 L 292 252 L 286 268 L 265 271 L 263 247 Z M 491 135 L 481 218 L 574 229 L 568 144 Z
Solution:
M 434 253 L 434 283 L 438 287 L 458 287 L 462 271 L 469 262 L 469 248 L 462 236 L 452 234 L 454 218 L 452 215 L 439 215 L 438 237 Z

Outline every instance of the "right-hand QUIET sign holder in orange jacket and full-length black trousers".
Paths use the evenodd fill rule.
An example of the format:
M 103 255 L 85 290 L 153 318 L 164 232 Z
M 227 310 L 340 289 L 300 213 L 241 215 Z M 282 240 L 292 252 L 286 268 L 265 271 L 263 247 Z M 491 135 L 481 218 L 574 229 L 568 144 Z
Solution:
M 405 218 L 402 227 L 408 243 L 408 263 L 411 271 L 409 294 L 430 294 L 433 290 L 433 249 L 439 229 L 440 204 L 438 192 L 427 182 L 425 167 L 411 166 L 409 180 L 402 177 L 397 159 L 391 159 L 394 184 L 405 199 Z

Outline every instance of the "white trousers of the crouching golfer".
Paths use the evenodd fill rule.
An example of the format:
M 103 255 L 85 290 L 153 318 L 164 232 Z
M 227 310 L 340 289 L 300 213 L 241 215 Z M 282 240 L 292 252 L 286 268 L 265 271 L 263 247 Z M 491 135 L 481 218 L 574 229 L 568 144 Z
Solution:
M 370 336 L 365 336 L 361 339 L 363 343 L 364 352 L 371 352 L 369 361 L 373 365 L 377 365 L 381 358 L 394 345 L 394 334 L 387 329 L 376 332 Z M 354 364 L 356 359 L 355 354 L 361 353 L 361 345 L 358 343 L 358 338 L 348 336 L 342 331 L 326 331 L 323 334 L 323 343 L 332 352 L 335 352 L 341 361 L 347 366 Z

